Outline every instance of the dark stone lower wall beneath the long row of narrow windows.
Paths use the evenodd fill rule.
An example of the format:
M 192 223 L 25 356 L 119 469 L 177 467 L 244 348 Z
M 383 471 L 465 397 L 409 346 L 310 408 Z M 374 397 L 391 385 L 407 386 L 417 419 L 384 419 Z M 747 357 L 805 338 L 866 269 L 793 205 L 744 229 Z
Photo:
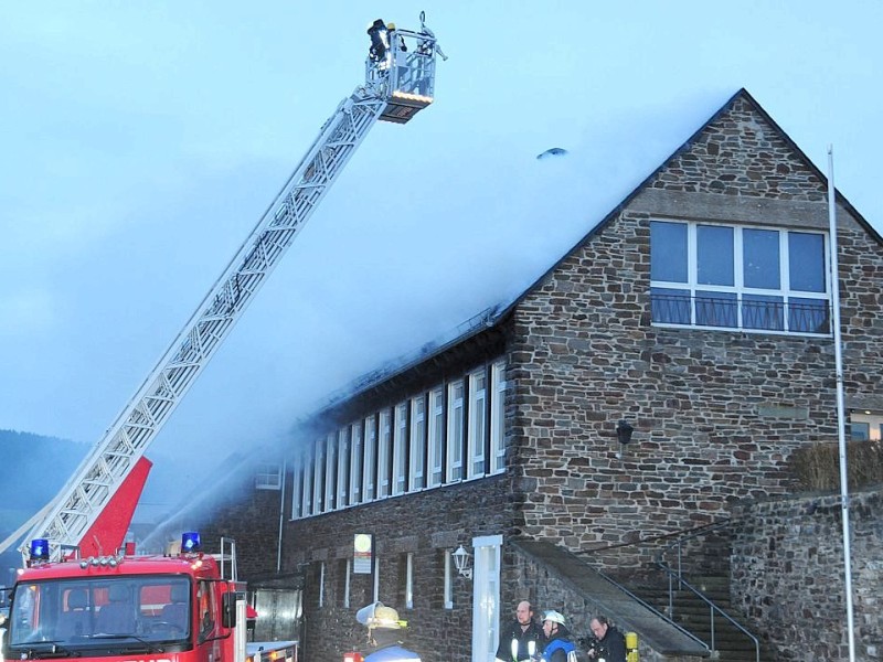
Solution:
M 343 606 L 343 577 L 347 559 L 353 556 L 354 534 L 370 533 L 380 564 L 380 600 L 408 621 L 412 648 L 424 662 L 468 662 L 472 583 L 455 570 L 454 607 L 445 608 L 445 551 L 460 544 L 469 547 L 472 536 L 511 531 L 507 485 L 498 476 L 291 522 L 286 527 L 283 572 L 308 564 L 306 659 L 342 660 L 344 652 L 362 648 L 365 630 L 355 621 L 355 612 L 372 601 L 372 577 L 352 576 L 349 607 Z M 413 609 L 404 606 L 407 553 L 414 554 Z M 322 563 L 325 591 L 319 607 Z

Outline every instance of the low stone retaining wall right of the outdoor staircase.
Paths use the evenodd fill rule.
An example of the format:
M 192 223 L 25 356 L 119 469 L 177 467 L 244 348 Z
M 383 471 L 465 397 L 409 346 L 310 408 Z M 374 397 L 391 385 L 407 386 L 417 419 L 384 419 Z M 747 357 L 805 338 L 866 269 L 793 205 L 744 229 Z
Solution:
M 883 491 L 851 494 L 855 659 L 883 656 Z M 733 605 L 776 660 L 847 660 L 840 495 L 766 500 L 733 510 Z

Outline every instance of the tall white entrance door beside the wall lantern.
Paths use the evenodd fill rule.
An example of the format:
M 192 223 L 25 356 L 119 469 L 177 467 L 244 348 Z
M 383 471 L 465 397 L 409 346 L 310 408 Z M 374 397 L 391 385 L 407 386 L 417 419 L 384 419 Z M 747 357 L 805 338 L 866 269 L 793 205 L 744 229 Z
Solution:
M 472 538 L 472 662 L 493 662 L 500 639 L 500 547 L 503 536 Z

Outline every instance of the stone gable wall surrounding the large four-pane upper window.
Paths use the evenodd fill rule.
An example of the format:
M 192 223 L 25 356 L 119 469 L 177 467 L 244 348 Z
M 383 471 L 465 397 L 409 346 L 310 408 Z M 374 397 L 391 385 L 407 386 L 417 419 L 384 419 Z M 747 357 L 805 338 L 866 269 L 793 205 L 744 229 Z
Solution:
M 650 220 L 827 227 L 825 186 L 747 102 L 724 113 L 649 190 L 523 301 L 510 377 L 517 521 L 614 574 L 646 541 L 795 488 L 794 449 L 836 441 L 830 338 L 650 323 Z M 845 387 L 883 403 L 883 250 L 839 209 Z M 621 449 L 615 426 L 635 427 Z

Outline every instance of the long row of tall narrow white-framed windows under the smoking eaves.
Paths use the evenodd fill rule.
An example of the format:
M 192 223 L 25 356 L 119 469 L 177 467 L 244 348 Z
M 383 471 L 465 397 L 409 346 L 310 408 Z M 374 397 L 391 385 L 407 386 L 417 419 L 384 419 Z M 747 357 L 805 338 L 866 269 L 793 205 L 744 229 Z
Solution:
M 292 517 L 500 473 L 506 363 L 482 365 L 301 449 Z

